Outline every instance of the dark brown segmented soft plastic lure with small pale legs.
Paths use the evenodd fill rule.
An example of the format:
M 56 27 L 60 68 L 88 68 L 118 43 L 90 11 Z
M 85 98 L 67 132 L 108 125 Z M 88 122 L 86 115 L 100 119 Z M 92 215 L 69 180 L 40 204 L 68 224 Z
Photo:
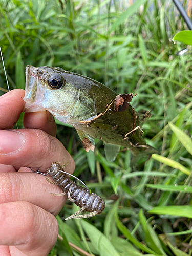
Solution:
M 70 177 L 63 172 L 63 168 L 59 163 L 52 163 L 51 168 L 47 169 L 48 174 L 52 177 L 55 184 L 57 184 L 64 193 L 67 194 L 69 200 L 79 206 L 81 209 L 72 216 L 71 218 L 89 218 L 100 214 L 105 207 L 105 202 L 101 197 L 96 195 L 95 193 L 90 193 L 84 187 L 77 185 L 75 181 L 72 181 Z M 90 214 L 77 216 L 82 211 L 88 211 Z

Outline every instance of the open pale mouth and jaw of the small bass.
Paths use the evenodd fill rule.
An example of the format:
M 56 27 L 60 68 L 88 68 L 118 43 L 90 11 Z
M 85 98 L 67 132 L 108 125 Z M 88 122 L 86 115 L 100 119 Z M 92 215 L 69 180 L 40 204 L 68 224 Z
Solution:
M 37 104 L 37 102 L 42 102 L 45 88 L 41 86 L 38 68 L 31 65 L 26 67 L 25 91 L 25 112 L 45 111 L 43 106 Z

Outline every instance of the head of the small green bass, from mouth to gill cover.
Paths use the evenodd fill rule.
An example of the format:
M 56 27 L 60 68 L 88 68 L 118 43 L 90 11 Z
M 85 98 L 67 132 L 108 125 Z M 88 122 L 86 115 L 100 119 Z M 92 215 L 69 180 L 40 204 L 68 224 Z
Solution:
M 95 105 L 88 95 L 84 80 L 84 77 L 61 68 L 47 66 L 36 68 L 28 65 L 24 97 L 25 112 L 48 110 L 64 123 L 77 122 L 76 120 L 94 116 Z

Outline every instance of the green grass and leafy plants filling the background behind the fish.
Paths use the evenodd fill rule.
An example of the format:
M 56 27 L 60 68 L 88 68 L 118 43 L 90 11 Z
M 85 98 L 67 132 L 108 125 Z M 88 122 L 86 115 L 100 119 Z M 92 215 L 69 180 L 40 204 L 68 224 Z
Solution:
M 102 141 L 86 153 L 76 131 L 58 125 L 57 138 L 76 162 L 74 175 L 106 208 L 88 220 L 63 222 L 76 210 L 67 202 L 51 255 L 192 255 L 192 59 L 178 56 L 185 45 L 172 41 L 184 29 L 172 1 L 1 0 L 0 44 L 11 89 L 25 88 L 31 64 L 137 93 L 135 110 L 153 113 L 143 126 L 145 140 L 161 152 L 131 169 L 129 151 L 110 163 Z M 2 62 L 0 75 L 7 89 Z

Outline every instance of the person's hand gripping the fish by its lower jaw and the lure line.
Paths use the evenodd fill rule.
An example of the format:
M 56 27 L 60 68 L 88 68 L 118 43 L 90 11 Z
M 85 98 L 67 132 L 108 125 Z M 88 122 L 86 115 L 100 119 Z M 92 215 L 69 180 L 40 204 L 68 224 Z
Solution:
M 25 129 L 12 129 L 24 109 L 25 91 L 12 90 L 0 97 L 0 255 L 48 255 L 58 235 L 54 216 L 66 202 L 58 186 L 27 167 L 41 172 L 52 162 L 75 164 L 56 139 L 56 124 L 48 112 L 25 113 Z M 28 128 L 28 129 L 26 129 Z

